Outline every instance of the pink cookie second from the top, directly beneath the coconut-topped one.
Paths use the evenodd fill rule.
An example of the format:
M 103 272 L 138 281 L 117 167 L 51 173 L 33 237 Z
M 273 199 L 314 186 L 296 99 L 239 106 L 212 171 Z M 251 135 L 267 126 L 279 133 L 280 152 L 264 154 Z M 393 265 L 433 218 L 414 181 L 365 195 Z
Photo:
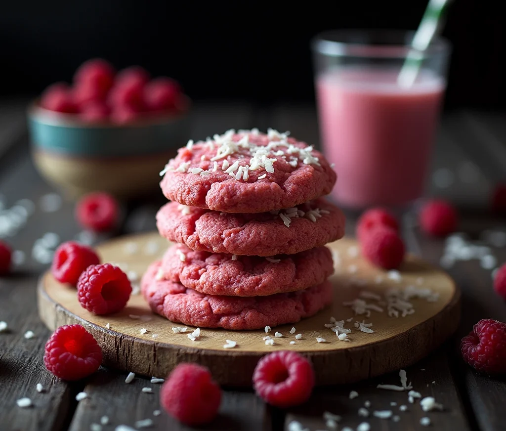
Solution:
M 229 214 L 170 202 L 156 214 L 156 226 L 195 251 L 255 256 L 299 253 L 344 235 L 343 212 L 325 199 L 277 212 Z

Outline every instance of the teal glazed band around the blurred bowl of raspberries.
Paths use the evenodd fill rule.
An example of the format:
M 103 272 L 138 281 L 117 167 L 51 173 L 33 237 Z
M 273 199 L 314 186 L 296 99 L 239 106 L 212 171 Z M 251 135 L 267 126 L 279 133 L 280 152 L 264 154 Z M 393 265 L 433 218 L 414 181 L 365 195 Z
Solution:
M 87 157 L 122 157 L 170 151 L 187 140 L 187 117 L 132 125 L 83 125 L 30 112 L 31 142 L 48 152 Z M 186 140 L 185 140 L 186 138 Z

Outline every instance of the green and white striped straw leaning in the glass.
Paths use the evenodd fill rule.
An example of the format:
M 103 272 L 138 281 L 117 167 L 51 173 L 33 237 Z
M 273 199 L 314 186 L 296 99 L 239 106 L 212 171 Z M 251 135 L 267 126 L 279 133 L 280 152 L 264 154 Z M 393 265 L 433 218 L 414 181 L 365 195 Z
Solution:
M 397 83 L 399 87 L 409 88 L 413 85 L 424 58 L 424 51 L 440 29 L 441 17 L 451 0 L 429 0 L 424 16 L 411 41 L 411 49 L 402 65 Z

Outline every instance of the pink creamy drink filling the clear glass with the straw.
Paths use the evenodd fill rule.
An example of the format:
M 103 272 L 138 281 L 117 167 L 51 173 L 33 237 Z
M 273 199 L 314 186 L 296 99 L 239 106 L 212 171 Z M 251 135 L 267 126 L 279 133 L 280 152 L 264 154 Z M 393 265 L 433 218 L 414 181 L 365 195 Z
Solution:
M 347 207 L 403 205 L 423 192 L 445 80 L 422 70 L 402 89 L 398 73 L 344 67 L 316 78 L 323 150 L 338 173 L 332 196 Z

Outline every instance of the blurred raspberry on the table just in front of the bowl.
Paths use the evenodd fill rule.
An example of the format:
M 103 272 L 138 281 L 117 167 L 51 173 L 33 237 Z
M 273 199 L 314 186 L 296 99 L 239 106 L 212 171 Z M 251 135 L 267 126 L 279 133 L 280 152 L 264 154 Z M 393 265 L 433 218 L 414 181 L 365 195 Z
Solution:
M 118 222 L 119 205 L 116 199 L 107 193 L 90 193 L 77 202 L 75 217 L 87 229 L 106 232 Z

